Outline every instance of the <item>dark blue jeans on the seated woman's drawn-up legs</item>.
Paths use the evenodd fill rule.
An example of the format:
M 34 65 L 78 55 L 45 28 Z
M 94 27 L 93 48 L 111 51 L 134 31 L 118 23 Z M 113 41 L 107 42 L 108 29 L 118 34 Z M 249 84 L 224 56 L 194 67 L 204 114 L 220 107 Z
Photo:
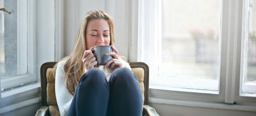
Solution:
M 116 69 L 107 82 L 93 68 L 79 80 L 68 116 L 141 116 L 142 95 L 138 79 L 128 68 Z

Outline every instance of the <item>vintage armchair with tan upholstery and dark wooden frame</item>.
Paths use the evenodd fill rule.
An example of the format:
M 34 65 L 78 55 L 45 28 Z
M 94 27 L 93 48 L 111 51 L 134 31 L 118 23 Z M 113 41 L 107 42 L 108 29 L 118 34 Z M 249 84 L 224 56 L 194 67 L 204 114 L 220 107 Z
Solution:
M 41 97 L 42 107 L 35 116 L 60 116 L 55 96 L 55 79 L 53 66 L 57 62 L 46 62 L 41 66 Z M 144 100 L 142 116 L 159 116 L 154 108 L 148 105 L 149 97 L 149 68 L 142 62 L 131 62 L 131 69 L 137 76 Z

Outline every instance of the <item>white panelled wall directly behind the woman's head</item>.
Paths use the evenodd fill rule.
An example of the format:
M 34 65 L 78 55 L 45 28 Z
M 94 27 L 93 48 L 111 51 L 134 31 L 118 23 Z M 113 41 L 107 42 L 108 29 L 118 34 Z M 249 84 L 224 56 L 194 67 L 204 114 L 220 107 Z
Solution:
M 89 10 L 102 10 L 114 19 L 115 46 L 119 50 L 119 55 L 128 57 L 127 2 L 127 0 L 64 0 L 64 56 L 69 55 L 73 50 L 79 23 L 85 13 Z

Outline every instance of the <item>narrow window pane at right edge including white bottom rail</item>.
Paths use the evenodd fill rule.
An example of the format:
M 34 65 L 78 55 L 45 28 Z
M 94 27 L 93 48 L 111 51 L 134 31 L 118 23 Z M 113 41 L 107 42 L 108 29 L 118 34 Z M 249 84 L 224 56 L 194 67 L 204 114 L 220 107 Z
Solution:
M 247 24 L 245 32 L 245 49 L 244 57 L 244 93 L 256 93 L 256 1 L 248 0 L 247 16 L 245 23 Z

